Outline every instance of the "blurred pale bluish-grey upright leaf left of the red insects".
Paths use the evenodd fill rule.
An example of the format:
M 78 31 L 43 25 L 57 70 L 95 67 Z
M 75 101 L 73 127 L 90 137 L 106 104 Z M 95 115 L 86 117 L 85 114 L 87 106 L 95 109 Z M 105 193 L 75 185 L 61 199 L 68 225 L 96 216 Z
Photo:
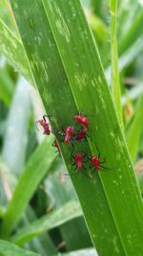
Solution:
M 21 78 L 10 106 L 2 151 L 4 161 L 14 175 L 19 175 L 24 167 L 30 114 L 31 87 Z

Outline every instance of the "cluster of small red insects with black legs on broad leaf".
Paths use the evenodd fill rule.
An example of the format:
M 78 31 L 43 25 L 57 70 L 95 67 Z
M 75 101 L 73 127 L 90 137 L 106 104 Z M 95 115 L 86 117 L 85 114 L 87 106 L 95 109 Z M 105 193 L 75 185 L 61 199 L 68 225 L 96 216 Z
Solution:
M 44 129 L 44 134 L 50 135 L 51 134 L 51 126 L 50 124 L 47 122 L 46 120 L 46 115 L 43 116 L 43 119 L 38 120 L 36 122 L 39 123 L 42 128 Z M 76 114 L 74 116 L 74 121 L 76 122 L 77 125 L 80 126 L 80 128 L 78 128 L 77 130 L 72 127 L 66 127 L 65 129 L 62 128 L 61 131 L 58 132 L 58 134 L 60 136 L 62 136 L 62 142 L 64 142 L 66 145 L 71 144 L 74 150 L 74 143 L 76 142 L 82 142 L 87 140 L 87 138 L 89 137 L 89 126 L 90 126 L 90 121 L 87 117 L 81 115 L 81 114 Z M 38 129 L 38 128 L 37 128 Z M 64 137 L 64 138 L 63 138 Z M 59 144 L 57 139 L 55 139 L 53 141 L 52 144 L 53 147 L 55 147 L 58 151 L 59 154 L 61 154 L 60 148 L 59 148 Z M 95 146 L 96 147 L 96 146 Z M 96 150 L 98 151 L 97 147 Z M 86 168 L 84 167 L 84 162 L 87 162 L 87 160 L 90 160 L 91 165 L 90 168 L 94 168 L 95 171 L 101 170 L 101 169 L 108 169 L 103 167 L 101 164 L 105 162 L 100 160 L 100 152 L 98 151 L 98 155 L 92 155 L 92 157 L 88 157 L 86 155 L 86 153 L 83 152 L 76 152 L 74 154 L 72 154 L 72 166 L 75 166 L 75 170 L 81 170 L 84 169 L 86 170 Z

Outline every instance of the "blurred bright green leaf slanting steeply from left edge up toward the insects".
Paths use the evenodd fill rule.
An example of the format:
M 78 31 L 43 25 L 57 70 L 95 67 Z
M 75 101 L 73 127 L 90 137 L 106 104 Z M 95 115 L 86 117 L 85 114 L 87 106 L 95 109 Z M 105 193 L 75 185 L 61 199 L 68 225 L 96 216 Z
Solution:
M 49 150 L 52 141 L 53 137 L 48 137 L 36 151 L 33 152 L 27 166 L 20 176 L 2 224 L 2 237 L 7 237 L 20 220 L 37 185 L 50 168 L 55 158 L 54 150 Z

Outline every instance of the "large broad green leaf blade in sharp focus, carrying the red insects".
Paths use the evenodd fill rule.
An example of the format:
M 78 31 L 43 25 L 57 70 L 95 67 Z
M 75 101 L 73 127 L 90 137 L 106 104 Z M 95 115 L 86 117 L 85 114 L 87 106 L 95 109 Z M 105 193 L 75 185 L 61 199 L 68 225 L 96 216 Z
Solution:
M 75 149 L 84 148 L 91 156 L 97 154 L 96 144 L 107 160 L 105 166 L 112 169 L 96 173 L 93 180 L 82 173 L 72 175 L 93 244 L 100 255 L 142 255 L 142 198 L 79 1 L 36 0 L 34 8 L 33 1 L 10 3 L 34 80 L 47 113 L 54 117 L 53 129 L 71 125 L 77 106 L 84 109 L 92 115 L 92 140 Z M 72 148 L 60 146 L 71 174 Z

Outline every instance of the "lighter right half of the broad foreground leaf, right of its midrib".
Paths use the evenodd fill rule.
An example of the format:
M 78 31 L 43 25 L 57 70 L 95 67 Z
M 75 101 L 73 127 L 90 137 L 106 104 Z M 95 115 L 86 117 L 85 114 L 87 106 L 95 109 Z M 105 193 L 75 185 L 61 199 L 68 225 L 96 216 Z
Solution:
M 138 220 L 140 218 L 140 214 L 143 214 L 141 197 L 139 194 L 135 176 L 133 175 L 133 167 L 130 157 L 128 155 L 128 151 L 126 149 L 125 142 L 122 138 L 120 129 L 117 128 L 118 125 L 112 109 L 112 101 L 110 98 L 108 87 L 106 86 L 106 81 L 104 79 L 104 75 L 99 64 L 99 59 L 95 54 L 92 36 L 90 35 L 88 26 L 86 25 L 86 22 L 82 16 L 81 7 L 79 6 L 78 1 L 74 1 L 74 4 L 72 3 L 72 5 L 70 3 L 67 3 L 67 5 L 63 5 L 62 1 L 54 1 L 53 3 L 52 1 L 43 0 L 43 2 L 45 3 L 46 12 L 51 24 L 51 31 L 58 45 L 58 49 L 64 63 L 65 70 L 70 81 L 72 92 L 74 94 L 76 102 L 80 109 L 88 109 L 87 111 L 89 111 L 90 113 L 93 113 L 92 108 L 94 109 L 94 113 L 96 113 L 96 120 L 94 120 L 94 122 L 91 121 L 91 128 L 92 130 L 94 130 L 92 138 L 94 142 L 99 145 L 99 149 L 102 149 L 103 155 L 104 153 L 107 154 L 107 152 L 109 151 L 107 166 L 112 166 L 114 167 L 114 169 L 116 169 L 116 172 L 114 171 L 112 172 L 112 174 L 101 175 L 101 180 L 102 184 L 104 184 L 103 186 L 106 197 L 112 209 L 112 218 L 116 223 L 116 230 L 120 236 L 124 251 L 125 253 L 129 254 L 133 253 L 133 251 L 134 253 L 136 253 L 134 250 L 134 246 L 136 246 L 138 253 L 141 253 L 141 244 L 136 244 L 135 237 L 133 238 L 133 235 L 131 235 L 134 229 L 136 230 L 134 232 L 139 236 L 136 225 L 134 225 L 133 227 L 133 225 L 131 225 L 131 222 L 133 219 L 134 221 L 138 222 L 137 225 L 140 225 Z M 78 18 L 76 18 L 76 16 L 78 16 Z M 69 20 L 70 22 L 68 23 Z M 58 24 L 62 24 L 65 27 L 66 24 L 68 24 L 69 33 L 66 33 L 66 28 L 66 32 L 62 33 L 62 30 L 60 30 L 61 27 L 59 27 Z M 69 40 L 67 39 L 66 35 L 69 35 Z M 75 40 L 72 40 L 74 36 Z M 85 38 L 85 40 L 82 40 L 83 37 Z M 81 42 L 83 48 L 81 48 L 80 46 Z M 83 49 L 86 55 L 86 61 L 83 60 Z M 88 51 L 89 49 L 91 49 L 91 52 Z M 69 58 L 70 61 L 68 61 Z M 90 98 L 90 101 L 86 101 L 87 95 Z M 95 105 L 93 97 L 95 99 Z M 98 111 L 99 114 L 97 114 Z M 107 124 L 106 127 L 104 126 L 105 123 Z M 102 130 L 101 133 L 100 130 Z M 98 135 L 96 135 L 96 133 L 98 133 Z M 106 149 L 106 151 L 104 151 L 104 149 Z M 93 145 L 92 151 L 94 151 Z M 126 199 L 124 193 L 126 196 L 128 194 L 131 201 L 133 201 L 134 210 L 132 211 L 129 219 L 129 216 L 127 218 L 125 218 L 125 216 L 127 212 L 131 212 L 131 201 L 129 202 L 129 200 Z M 116 195 L 118 200 L 120 200 L 121 204 L 123 204 L 123 201 L 125 202 L 124 209 L 120 209 L 120 204 L 116 204 L 115 198 L 112 197 L 112 195 Z M 136 196 L 140 199 L 136 200 Z M 138 211 L 135 210 L 134 205 L 136 205 Z M 128 210 L 125 210 L 126 207 Z M 120 218 L 122 219 L 122 221 L 125 221 L 124 224 L 123 222 L 121 223 Z M 126 228 L 125 225 L 127 225 Z M 127 236 L 125 235 L 127 230 L 131 235 L 132 239 L 134 240 L 133 247 L 131 246 L 129 240 L 127 240 Z M 142 225 L 140 226 L 140 232 L 143 232 Z

